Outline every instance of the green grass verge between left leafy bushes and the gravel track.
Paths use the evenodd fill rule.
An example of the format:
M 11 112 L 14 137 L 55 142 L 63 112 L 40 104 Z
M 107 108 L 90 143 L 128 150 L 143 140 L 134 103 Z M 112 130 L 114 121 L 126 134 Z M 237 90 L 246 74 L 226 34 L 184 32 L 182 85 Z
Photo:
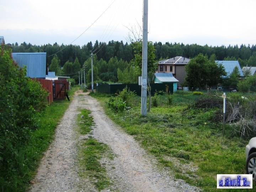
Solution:
M 69 91 L 71 100 L 74 92 L 78 89 L 79 87 L 72 87 Z M 8 187 L 3 191 L 26 191 L 28 189 L 30 181 L 36 175 L 43 153 L 54 139 L 55 128 L 69 104 L 70 102 L 67 99 L 54 101 L 46 108 L 44 113 L 37 117 L 39 119 L 38 128 L 31 133 L 28 142 L 20 147 L 17 155 L 17 164 L 21 166 L 4 175 L 5 186 Z M 0 179 L 2 179 L 1 176 Z

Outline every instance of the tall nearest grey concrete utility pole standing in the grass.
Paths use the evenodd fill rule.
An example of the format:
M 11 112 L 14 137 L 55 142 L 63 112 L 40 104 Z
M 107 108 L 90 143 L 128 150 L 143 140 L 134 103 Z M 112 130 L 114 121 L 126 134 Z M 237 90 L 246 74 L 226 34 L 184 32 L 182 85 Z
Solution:
M 143 41 L 142 41 L 142 96 L 141 111 L 145 116 L 147 103 L 147 82 L 148 82 L 148 0 L 143 0 Z

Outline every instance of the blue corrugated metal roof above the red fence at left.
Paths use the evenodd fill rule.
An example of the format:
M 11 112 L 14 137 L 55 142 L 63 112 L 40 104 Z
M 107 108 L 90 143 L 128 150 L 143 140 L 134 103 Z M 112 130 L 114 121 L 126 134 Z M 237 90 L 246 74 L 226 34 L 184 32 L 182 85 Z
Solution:
M 12 58 L 18 66 L 27 66 L 28 77 L 46 77 L 46 53 L 12 53 Z

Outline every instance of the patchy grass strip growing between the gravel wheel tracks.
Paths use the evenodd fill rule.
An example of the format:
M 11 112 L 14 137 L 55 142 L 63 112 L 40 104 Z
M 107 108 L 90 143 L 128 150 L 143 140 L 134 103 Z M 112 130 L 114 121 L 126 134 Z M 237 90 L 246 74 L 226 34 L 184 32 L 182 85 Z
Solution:
M 82 109 L 78 115 L 77 123 L 80 134 L 90 133 L 91 127 L 94 125 L 90 113 L 89 110 Z M 100 163 L 104 156 L 113 159 L 111 150 L 106 144 L 98 142 L 91 136 L 82 140 L 79 146 L 79 176 L 89 178 L 98 191 L 105 189 L 111 184 L 106 168 Z

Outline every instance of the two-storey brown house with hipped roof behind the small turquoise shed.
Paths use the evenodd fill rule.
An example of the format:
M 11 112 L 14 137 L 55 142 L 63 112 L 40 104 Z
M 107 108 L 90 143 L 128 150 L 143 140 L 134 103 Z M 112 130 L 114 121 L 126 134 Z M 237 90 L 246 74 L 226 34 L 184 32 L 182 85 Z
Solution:
M 185 66 L 189 61 L 190 59 L 186 57 L 174 57 L 161 60 L 158 62 L 158 70 L 156 72 L 171 73 L 178 80 L 178 86 L 180 87 L 180 84 L 182 84 L 186 76 Z

